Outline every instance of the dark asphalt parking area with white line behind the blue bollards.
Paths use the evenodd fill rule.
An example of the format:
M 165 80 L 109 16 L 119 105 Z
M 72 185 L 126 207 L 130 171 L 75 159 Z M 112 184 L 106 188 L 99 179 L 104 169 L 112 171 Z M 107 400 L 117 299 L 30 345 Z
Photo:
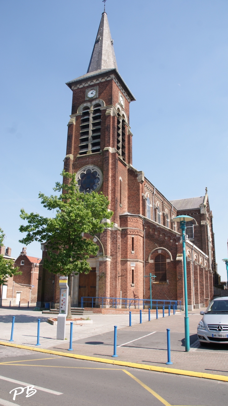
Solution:
M 198 339 L 197 334 L 190 335 L 190 345 Z M 95 335 L 86 339 L 74 341 L 75 344 L 91 344 L 102 346 L 113 346 L 114 332 Z M 134 330 L 117 330 L 117 346 L 135 347 L 135 348 L 151 348 L 166 350 L 167 349 L 167 334 L 165 332 L 151 331 L 134 331 Z M 171 350 L 185 351 L 185 335 L 184 333 L 170 332 Z

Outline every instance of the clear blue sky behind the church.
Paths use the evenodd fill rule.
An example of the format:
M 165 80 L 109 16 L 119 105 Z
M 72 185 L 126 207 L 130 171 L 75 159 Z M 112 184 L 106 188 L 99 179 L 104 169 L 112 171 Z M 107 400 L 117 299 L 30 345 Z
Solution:
M 46 215 L 66 151 L 71 90 L 92 53 L 101 0 L 0 2 L 0 227 L 17 257 L 21 207 Z M 228 2 L 108 0 L 130 110 L 133 166 L 168 199 L 208 188 L 216 260 L 227 256 Z M 40 245 L 28 246 L 41 257 Z

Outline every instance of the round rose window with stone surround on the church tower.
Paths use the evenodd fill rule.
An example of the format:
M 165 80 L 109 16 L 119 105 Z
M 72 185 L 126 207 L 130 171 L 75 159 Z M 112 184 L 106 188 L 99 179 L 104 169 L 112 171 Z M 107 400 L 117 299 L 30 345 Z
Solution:
M 103 175 L 95 165 L 84 166 L 77 172 L 76 181 L 80 192 L 98 192 L 102 185 Z

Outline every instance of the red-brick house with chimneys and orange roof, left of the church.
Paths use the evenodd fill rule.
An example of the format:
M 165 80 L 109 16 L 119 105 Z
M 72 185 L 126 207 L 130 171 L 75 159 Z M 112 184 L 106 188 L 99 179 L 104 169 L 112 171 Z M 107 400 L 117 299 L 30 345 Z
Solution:
M 2 252 L 5 247 L 2 248 Z M 8 251 L 7 251 L 8 250 Z M 1 252 L 1 251 L 0 251 Z M 14 275 L 0 287 L 0 298 L 2 306 L 36 306 L 37 287 L 39 276 L 40 258 L 29 257 L 26 248 L 22 249 L 17 259 L 11 257 L 11 248 L 6 248 L 4 258 L 13 259 L 15 266 L 22 271 L 21 275 Z

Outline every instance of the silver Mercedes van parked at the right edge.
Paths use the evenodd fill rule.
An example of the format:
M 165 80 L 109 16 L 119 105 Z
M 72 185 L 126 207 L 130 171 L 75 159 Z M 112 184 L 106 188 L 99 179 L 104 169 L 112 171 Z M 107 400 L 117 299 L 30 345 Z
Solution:
M 228 296 L 212 300 L 197 327 L 200 344 L 228 344 Z

